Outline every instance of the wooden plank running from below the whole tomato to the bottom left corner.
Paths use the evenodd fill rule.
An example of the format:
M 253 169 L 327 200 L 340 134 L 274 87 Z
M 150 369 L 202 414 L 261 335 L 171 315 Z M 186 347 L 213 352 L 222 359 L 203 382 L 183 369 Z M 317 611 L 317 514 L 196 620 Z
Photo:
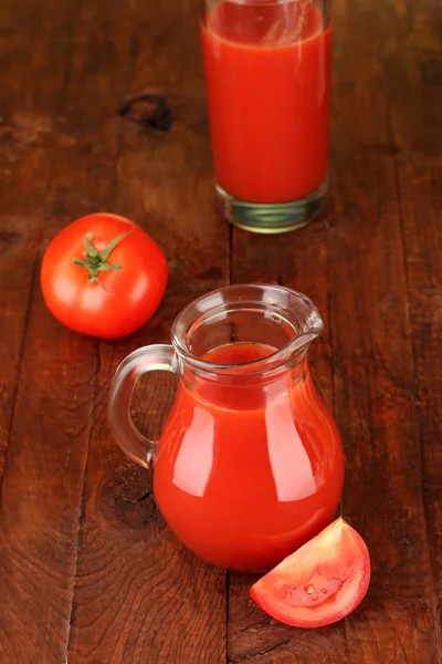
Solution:
M 4 662 L 64 661 L 93 371 L 93 344 L 49 318 L 36 283 L 2 485 Z

